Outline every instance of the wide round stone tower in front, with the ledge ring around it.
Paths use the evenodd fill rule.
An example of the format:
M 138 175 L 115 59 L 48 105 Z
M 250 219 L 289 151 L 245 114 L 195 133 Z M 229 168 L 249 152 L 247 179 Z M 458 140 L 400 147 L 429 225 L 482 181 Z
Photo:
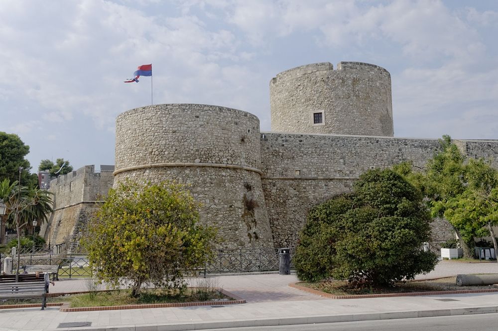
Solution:
M 259 120 L 236 109 L 167 104 L 116 119 L 114 185 L 175 180 L 201 202 L 201 222 L 216 226 L 220 248 L 273 247 L 261 186 Z

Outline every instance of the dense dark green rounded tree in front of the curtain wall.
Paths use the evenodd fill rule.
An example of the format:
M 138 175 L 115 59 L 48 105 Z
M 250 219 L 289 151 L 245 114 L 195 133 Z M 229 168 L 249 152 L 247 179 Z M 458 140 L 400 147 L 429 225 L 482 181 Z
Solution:
M 430 220 L 415 186 L 390 169 L 370 170 L 353 193 L 311 209 L 296 248 L 297 275 L 377 287 L 430 272 L 436 255 L 422 250 Z

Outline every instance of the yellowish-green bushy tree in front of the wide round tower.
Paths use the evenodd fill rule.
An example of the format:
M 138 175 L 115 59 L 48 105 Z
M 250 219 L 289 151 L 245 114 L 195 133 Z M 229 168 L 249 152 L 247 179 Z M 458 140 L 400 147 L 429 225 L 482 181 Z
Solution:
M 198 204 L 181 185 L 126 181 L 109 191 L 82 240 L 96 276 L 132 296 L 144 284 L 183 288 L 183 274 L 212 256 L 215 230 L 198 223 Z

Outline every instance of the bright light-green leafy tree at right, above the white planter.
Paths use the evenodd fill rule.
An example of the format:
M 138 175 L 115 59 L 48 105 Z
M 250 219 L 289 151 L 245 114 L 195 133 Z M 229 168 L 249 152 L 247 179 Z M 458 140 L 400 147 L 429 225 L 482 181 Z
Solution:
M 449 136 L 443 136 L 440 146 L 424 171 L 413 171 L 409 162 L 393 168 L 422 191 L 433 217 L 448 220 L 464 256 L 472 258 L 474 238 L 489 235 L 496 223 L 485 219 L 493 215 L 497 170 L 484 160 L 466 160 Z

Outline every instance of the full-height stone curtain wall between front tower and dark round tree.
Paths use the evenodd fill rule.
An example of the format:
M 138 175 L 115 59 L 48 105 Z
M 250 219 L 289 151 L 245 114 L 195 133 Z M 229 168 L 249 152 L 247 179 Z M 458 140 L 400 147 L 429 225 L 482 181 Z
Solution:
M 309 209 L 349 192 L 370 168 L 406 160 L 423 167 L 438 140 L 261 133 L 262 183 L 275 247 L 294 247 Z M 445 221 L 434 222 L 439 238 L 452 238 Z

